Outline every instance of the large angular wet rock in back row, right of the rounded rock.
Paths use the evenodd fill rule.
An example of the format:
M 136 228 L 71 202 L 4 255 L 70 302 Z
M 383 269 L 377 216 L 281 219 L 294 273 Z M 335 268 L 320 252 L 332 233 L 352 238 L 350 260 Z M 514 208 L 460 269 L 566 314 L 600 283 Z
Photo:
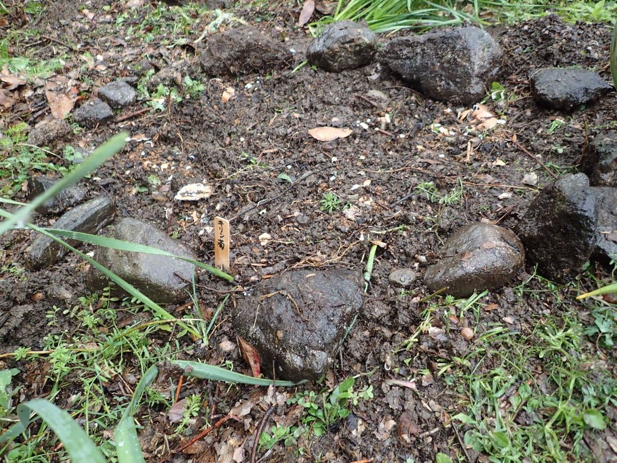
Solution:
M 502 49 L 482 29 L 460 27 L 395 38 L 378 58 L 429 98 L 470 104 L 499 76 Z

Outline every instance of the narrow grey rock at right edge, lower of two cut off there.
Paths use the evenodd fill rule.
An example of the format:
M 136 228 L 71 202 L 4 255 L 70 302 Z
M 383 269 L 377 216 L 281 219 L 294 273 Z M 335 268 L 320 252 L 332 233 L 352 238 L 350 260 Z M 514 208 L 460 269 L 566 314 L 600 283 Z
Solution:
M 590 188 L 598 203 L 594 259 L 609 264 L 617 260 L 617 188 L 596 186 Z

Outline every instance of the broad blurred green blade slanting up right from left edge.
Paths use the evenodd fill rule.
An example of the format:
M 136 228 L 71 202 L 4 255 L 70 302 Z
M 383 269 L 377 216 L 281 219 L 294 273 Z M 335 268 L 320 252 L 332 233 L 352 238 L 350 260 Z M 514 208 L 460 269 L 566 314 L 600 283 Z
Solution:
M 81 178 L 89 172 L 95 170 L 103 164 L 103 162 L 107 161 L 107 159 L 114 156 L 114 154 L 120 151 L 120 149 L 124 146 L 127 136 L 128 133 L 126 132 L 121 132 L 118 133 L 118 135 L 113 136 L 99 146 L 99 148 L 95 149 L 90 156 L 88 156 L 75 168 L 75 170 L 63 177 L 62 180 L 55 183 L 51 188 L 49 188 L 49 190 L 37 196 L 26 206 L 20 207 L 15 214 L 12 214 L 10 219 L 4 220 L 4 222 L 0 223 L 0 236 L 4 235 L 4 233 L 15 225 L 25 225 L 25 223 L 30 220 L 32 211 L 34 211 L 37 207 L 56 196 L 61 190 L 64 190 L 64 188 L 75 185 L 75 183 L 80 181 Z

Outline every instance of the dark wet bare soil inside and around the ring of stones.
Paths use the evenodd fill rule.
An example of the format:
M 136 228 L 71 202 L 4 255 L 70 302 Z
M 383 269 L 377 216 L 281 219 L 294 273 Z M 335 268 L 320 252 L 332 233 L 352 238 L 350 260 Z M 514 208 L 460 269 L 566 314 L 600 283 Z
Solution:
M 92 88 L 117 77 L 140 77 L 133 69 L 146 57 L 158 65 L 183 57 L 193 59 L 193 46 L 165 48 L 157 43 L 137 43 L 137 39 L 125 41 L 121 33 L 114 33 L 113 23 L 84 21 L 79 3 L 52 2 L 37 27 L 59 40 L 72 42 L 72 37 L 76 38 L 82 46 L 80 51 L 44 39 L 38 39 L 36 47 L 38 56 L 48 59 L 68 52 L 64 72 L 77 69 L 83 52 L 101 54 L 104 69 L 92 67 L 81 74 Z M 103 3 L 91 2 L 88 10 L 98 14 Z M 119 14 L 123 8 L 122 2 L 112 2 L 109 14 Z M 88 188 L 90 196 L 109 194 L 114 198 L 119 217 L 151 222 L 191 246 L 207 263 L 213 259 L 214 215 L 231 219 L 231 273 L 246 289 L 290 268 L 363 270 L 371 241 L 383 242 L 362 313 L 342 348 L 341 361 L 333 369 L 334 384 L 350 375 L 370 372 L 357 381 L 359 385 L 372 384 L 375 398 L 353 407 L 350 418 L 336 430 L 313 439 L 303 458 L 434 461 L 437 452 L 447 453 L 453 446 L 460 446 L 452 427 L 447 425 L 450 415 L 457 412 L 459 400 L 437 374 L 428 372 L 436 371 L 438 359 L 461 357 L 473 348 L 474 341 L 468 342 L 460 335 L 462 327 L 470 325 L 481 332 L 491 323 L 502 323 L 503 317 L 510 317 L 518 329 L 529 330 L 552 301 L 549 296 L 546 300 L 516 298 L 512 288 L 503 288 L 483 299 L 492 304 L 492 310 L 482 311 L 478 320 L 471 316 L 458 320 L 448 335 L 431 338 L 423 334 L 410 351 L 393 353 L 421 322 L 426 302 L 419 301 L 429 294 L 421 274 L 444 239 L 459 227 L 488 220 L 513 228 L 539 188 L 553 181 L 513 140 L 532 155 L 539 155 L 554 173 L 575 170 L 589 138 L 611 123 L 616 100 L 610 96 L 572 115 L 547 111 L 534 104 L 528 74 L 539 67 L 576 65 L 595 69 L 610 80 L 610 30 L 603 25 L 565 24 L 556 17 L 493 28 L 492 34 L 506 52 L 500 79 L 505 92 L 503 98 L 495 95 L 485 104 L 505 123 L 494 130 L 479 131 L 478 122 L 471 116 L 458 119 L 461 111 L 470 108 L 423 98 L 377 64 L 342 73 L 327 73 L 305 65 L 292 72 L 302 61 L 310 36 L 292 26 L 289 10 L 284 6 L 270 10 L 247 8 L 239 9 L 237 14 L 249 23 L 260 19 L 259 27 L 277 40 L 288 39 L 289 47 L 297 51 L 294 64 L 289 69 L 238 80 L 205 78 L 205 90 L 197 98 L 170 104 L 164 111 L 77 131 L 69 144 L 81 148 L 93 148 L 120 130 L 128 130 L 133 138 L 113 161 L 81 185 Z M 75 22 L 79 34 L 73 30 Z M 202 26 L 206 23 L 204 20 Z M 196 28 L 189 38 L 194 40 L 200 34 Z M 35 41 L 28 38 L 16 43 L 14 54 L 26 52 Z M 236 98 L 223 103 L 222 93 L 229 86 L 234 87 Z M 371 90 L 386 94 L 386 109 L 370 102 L 367 93 Z M 44 95 L 36 91 L 19 111 L 5 114 L 4 127 L 20 120 L 33 126 L 37 119 L 46 117 L 48 111 L 36 110 L 44 106 L 41 100 Z M 122 114 L 142 107 L 143 102 L 138 101 Z M 382 125 L 386 112 L 391 123 Z M 553 124 L 556 120 L 564 123 Z M 549 130 L 552 124 L 557 127 Z M 354 133 L 324 143 L 307 133 L 321 125 L 352 128 Z M 62 146 L 58 148 L 61 151 Z M 537 173 L 537 185 L 522 183 L 530 172 Z M 294 183 L 281 178 L 282 173 Z M 149 186 L 151 175 L 159 177 L 162 185 L 154 187 L 154 191 L 143 191 L 139 187 Z M 181 186 L 196 181 L 213 187 L 209 199 L 173 200 Z M 450 204 L 431 202 L 416 189 L 424 182 L 433 182 L 441 198 L 453 191 L 462 194 Z M 332 213 L 321 211 L 324 193 L 335 193 L 341 206 L 351 207 Z M 15 199 L 24 199 L 20 195 Z M 51 220 L 35 217 L 39 225 L 49 225 Z M 271 236 L 266 244 L 260 243 L 262 233 Z M 0 263 L 23 266 L 22 254 L 28 242 L 28 233 L 23 231 L 4 236 Z M 400 267 L 410 267 L 420 275 L 409 291 L 402 292 L 388 281 L 389 273 Z M 23 279 L 2 275 L 0 352 L 11 352 L 19 346 L 38 350 L 50 329 L 60 334 L 58 328 L 48 327 L 46 312 L 54 305 L 67 304 L 58 297 L 64 294 L 62 289 L 71 295 L 69 304 L 86 294 L 84 274 L 84 262 L 70 255 L 51 269 L 25 272 Z M 511 286 L 527 278 L 527 273 L 519 275 Z M 201 274 L 198 294 L 205 307 L 215 309 L 223 297 L 218 291 L 226 290 L 230 287 L 225 283 Z M 565 310 L 562 305 L 553 309 L 553 315 Z M 230 312 L 230 307 L 225 307 L 221 322 L 217 322 L 210 341 L 212 348 L 199 350 L 194 359 L 212 364 L 231 359 L 236 361 L 236 369 L 248 372 L 237 354 L 219 347 L 223 340 L 234 340 Z M 77 329 L 71 325 L 74 320 L 62 320 L 67 333 Z M 441 323 L 438 315 L 434 323 Z M 183 338 L 179 342 L 191 341 Z M 7 361 L 7 365 L 13 364 L 19 362 Z M 387 383 L 409 375 L 430 380 L 418 381 L 414 388 Z M 22 394 L 30 398 L 34 392 L 25 377 L 23 373 Z M 251 392 L 250 388 L 227 390 L 214 384 L 196 383 L 192 387 L 193 391 L 207 391 L 215 397 L 221 413 Z M 70 394 L 69 385 L 56 403 L 62 404 Z M 281 416 L 286 412 L 285 407 L 276 410 Z M 415 430 L 410 432 L 409 443 L 397 437 L 394 427 L 404 412 L 405 420 Z M 254 414 L 256 425 L 263 412 Z M 358 433 L 358 422 L 362 423 L 362 433 Z M 166 432 L 160 417 L 152 424 L 156 433 Z M 148 435 L 151 432 L 144 431 Z M 229 432 L 221 431 L 208 439 L 217 444 L 229 436 Z M 156 441 L 152 448 L 144 450 L 152 454 L 150 461 L 157 461 L 155 446 L 160 440 L 152 441 Z M 276 446 L 268 457 L 268 461 L 298 459 L 293 449 L 283 446 Z M 176 457 L 173 461 L 181 460 Z M 199 461 L 211 460 L 204 457 Z

